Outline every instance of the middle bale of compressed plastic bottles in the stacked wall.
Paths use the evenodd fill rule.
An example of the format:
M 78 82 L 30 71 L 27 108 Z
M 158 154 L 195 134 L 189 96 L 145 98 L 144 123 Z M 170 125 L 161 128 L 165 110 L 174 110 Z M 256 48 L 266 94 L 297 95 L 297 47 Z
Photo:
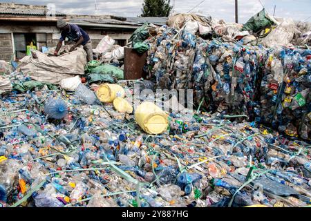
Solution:
M 242 46 L 241 41 L 231 44 L 214 40 L 207 53 L 207 66 L 213 76 L 209 93 L 214 107 L 209 110 L 251 116 L 257 106 L 256 80 L 258 67 L 265 61 L 265 50 Z

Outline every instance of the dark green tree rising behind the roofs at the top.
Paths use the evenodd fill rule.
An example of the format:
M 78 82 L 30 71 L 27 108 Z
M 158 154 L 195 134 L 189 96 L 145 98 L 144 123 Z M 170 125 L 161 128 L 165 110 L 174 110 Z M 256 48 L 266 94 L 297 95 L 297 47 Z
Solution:
M 169 17 L 170 0 L 144 0 L 141 17 Z

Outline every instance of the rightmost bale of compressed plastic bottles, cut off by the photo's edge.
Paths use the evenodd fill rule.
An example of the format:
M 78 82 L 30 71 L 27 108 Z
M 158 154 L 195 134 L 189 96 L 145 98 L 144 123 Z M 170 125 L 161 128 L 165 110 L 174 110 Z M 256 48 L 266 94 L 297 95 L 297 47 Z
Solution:
M 310 50 L 276 48 L 261 82 L 263 123 L 291 137 L 310 139 Z

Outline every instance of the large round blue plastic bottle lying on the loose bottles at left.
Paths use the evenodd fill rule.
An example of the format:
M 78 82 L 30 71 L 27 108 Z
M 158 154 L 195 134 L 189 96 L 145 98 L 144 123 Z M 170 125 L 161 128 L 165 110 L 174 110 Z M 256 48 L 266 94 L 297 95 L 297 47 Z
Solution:
M 44 113 L 53 119 L 64 118 L 67 111 L 67 104 L 62 99 L 50 99 L 44 106 Z

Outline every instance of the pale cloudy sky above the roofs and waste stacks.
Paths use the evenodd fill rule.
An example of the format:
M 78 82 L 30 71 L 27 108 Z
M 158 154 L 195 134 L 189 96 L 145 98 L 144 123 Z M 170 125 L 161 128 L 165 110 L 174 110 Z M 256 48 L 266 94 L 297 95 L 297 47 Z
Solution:
M 175 12 L 188 12 L 202 0 L 175 0 Z M 55 3 L 56 10 L 68 14 L 82 15 L 117 15 L 123 17 L 137 17 L 141 14 L 143 0 L 22 0 L 1 1 L 25 4 L 47 5 Z M 267 12 L 273 14 L 276 5 L 276 17 L 291 17 L 295 20 L 311 21 L 311 0 L 238 0 L 239 22 L 245 23 L 249 17 L 265 6 Z M 173 5 L 173 0 L 171 0 Z M 217 19 L 234 21 L 234 0 L 205 0 L 191 12 L 200 12 Z

